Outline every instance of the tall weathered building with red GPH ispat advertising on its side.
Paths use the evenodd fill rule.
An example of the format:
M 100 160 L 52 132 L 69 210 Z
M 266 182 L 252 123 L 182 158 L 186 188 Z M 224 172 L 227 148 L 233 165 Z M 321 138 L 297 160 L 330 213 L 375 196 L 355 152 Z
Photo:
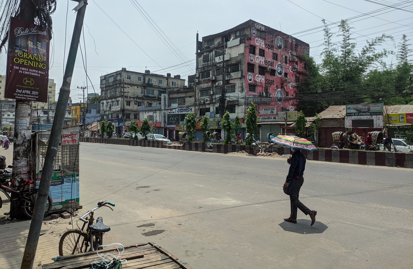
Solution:
M 277 123 L 284 118 L 278 112 L 294 111 L 298 105 L 294 96 L 297 83 L 306 77 L 305 55 L 309 44 L 252 20 L 204 36 L 197 40 L 197 116 L 209 114 L 219 121 L 228 110 L 231 119 L 239 116 L 243 122 L 253 101 L 260 123 L 280 132 Z M 266 131 L 261 131 L 264 137 Z

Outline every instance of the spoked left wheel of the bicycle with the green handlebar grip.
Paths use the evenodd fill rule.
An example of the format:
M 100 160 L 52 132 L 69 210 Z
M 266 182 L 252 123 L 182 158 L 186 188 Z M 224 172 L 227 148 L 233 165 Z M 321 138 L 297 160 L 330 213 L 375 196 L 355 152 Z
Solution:
M 66 231 L 59 241 L 59 255 L 63 256 L 86 252 L 88 245 L 86 234 L 77 230 Z

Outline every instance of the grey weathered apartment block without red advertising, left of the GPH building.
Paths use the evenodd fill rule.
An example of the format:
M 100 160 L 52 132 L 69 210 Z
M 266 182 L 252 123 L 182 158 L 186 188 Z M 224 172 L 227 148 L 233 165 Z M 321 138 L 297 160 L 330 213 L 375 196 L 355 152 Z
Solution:
M 161 94 L 183 90 L 185 80 L 179 75 L 171 77 L 151 73 L 119 71 L 100 77 L 100 119 L 114 123 L 115 131 L 123 134 L 127 127 L 124 123 L 131 120 L 142 121 L 147 118 L 156 122 L 158 132 L 165 133 L 161 127 Z M 159 126 L 158 126 L 159 125 Z

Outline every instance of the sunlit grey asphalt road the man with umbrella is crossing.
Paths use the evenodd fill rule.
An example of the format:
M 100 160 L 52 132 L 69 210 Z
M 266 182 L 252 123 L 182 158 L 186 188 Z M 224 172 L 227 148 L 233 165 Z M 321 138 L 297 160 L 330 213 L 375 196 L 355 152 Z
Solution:
M 290 215 L 285 159 L 81 143 L 83 208 L 104 243 L 151 241 L 194 269 L 411 268 L 413 170 L 307 161 Z M 84 212 L 84 211 L 82 211 Z M 410 264 L 410 265 L 409 265 Z

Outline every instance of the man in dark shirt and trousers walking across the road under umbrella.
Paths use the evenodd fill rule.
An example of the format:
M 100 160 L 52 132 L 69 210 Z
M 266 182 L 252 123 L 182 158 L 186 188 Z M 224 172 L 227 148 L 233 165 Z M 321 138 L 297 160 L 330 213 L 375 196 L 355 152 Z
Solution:
M 293 179 L 296 179 L 296 183 L 292 186 L 290 191 L 290 203 L 291 203 L 291 215 L 289 218 L 284 219 L 287 222 L 297 223 L 297 208 L 299 208 L 304 214 L 310 215 L 311 226 L 316 222 L 317 211 L 309 210 L 303 203 L 298 200 L 298 194 L 300 188 L 304 183 L 304 169 L 306 168 L 306 157 L 299 149 L 295 149 L 290 159 L 290 170 L 288 171 L 287 179 L 285 180 L 284 187 L 288 188 L 288 185 Z

